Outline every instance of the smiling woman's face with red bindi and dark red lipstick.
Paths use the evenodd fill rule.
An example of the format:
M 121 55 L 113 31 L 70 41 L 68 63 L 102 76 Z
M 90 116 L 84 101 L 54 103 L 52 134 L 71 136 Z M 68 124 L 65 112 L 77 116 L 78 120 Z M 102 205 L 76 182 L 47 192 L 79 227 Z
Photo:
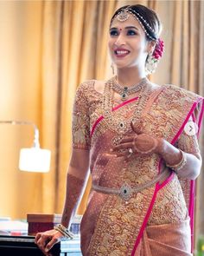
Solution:
M 120 22 L 115 17 L 109 33 L 109 52 L 112 62 L 118 69 L 145 64 L 148 54 L 148 41 L 137 19 L 130 15 Z

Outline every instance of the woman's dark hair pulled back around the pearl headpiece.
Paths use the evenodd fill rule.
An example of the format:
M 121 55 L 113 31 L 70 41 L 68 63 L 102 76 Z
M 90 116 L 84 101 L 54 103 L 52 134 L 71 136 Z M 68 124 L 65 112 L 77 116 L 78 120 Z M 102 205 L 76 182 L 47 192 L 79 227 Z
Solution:
M 156 15 L 156 12 L 154 10 L 151 10 L 150 8 L 142 5 L 142 4 L 134 4 L 134 5 L 125 5 L 114 13 L 112 16 L 111 24 L 115 16 L 118 15 L 119 12 L 121 12 L 124 9 L 130 10 L 130 12 L 134 15 L 135 12 L 139 14 L 139 16 L 143 16 L 143 19 L 150 24 L 150 27 L 155 30 L 156 32 L 154 33 L 150 28 L 147 26 L 146 23 L 143 22 L 143 19 L 141 19 L 139 16 L 137 18 L 140 20 L 141 23 L 143 23 L 143 27 L 145 30 L 147 30 L 147 34 L 150 35 L 150 37 L 154 38 L 155 40 L 158 39 L 161 31 L 162 31 L 162 23 L 160 22 L 158 16 Z M 131 11 L 132 10 L 132 11 Z M 134 12 L 135 11 L 135 12 Z M 145 33 L 146 39 L 148 41 L 151 41 L 152 38 L 150 38 L 148 35 Z

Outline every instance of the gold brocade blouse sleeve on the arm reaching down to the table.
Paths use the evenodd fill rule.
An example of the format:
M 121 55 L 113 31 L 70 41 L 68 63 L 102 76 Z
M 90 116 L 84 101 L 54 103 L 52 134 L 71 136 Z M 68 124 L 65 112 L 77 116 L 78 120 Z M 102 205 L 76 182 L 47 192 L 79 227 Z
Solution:
M 72 139 L 73 148 L 88 150 L 91 142 L 89 107 L 86 95 L 86 86 L 81 83 L 73 103 Z

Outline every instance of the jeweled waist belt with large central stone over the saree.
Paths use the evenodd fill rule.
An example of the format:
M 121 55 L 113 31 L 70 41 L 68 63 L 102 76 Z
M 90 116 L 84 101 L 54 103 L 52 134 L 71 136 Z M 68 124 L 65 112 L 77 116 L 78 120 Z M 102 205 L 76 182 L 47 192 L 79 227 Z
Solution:
M 148 181 L 137 187 L 131 187 L 129 184 L 125 182 L 120 188 L 102 187 L 99 185 L 92 184 L 92 189 L 104 194 L 117 194 L 123 200 L 129 200 L 132 193 L 138 193 L 145 188 L 151 187 L 152 185 L 156 184 L 156 182 L 161 181 L 163 180 L 163 178 L 167 177 L 168 174 L 170 174 L 170 171 L 168 168 L 165 168 L 165 170 L 158 174 L 155 179 Z

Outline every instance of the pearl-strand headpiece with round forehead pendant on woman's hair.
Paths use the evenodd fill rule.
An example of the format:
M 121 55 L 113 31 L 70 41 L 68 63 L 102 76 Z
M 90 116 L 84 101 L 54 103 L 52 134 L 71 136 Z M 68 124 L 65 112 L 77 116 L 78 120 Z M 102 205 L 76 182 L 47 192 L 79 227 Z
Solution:
M 143 28 L 144 33 L 153 41 L 156 41 L 157 38 L 156 36 L 150 36 L 148 31 L 144 28 L 143 23 L 149 28 L 149 30 L 156 35 L 156 31 L 153 30 L 153 28 L 150 26 L 150 24 L 141 16 L 136 10 L 132 10 L 130 7 L 125 8 L 124 10 L 121 10 L 116 18 L 118 19 L 119 22 L 124 22 L 129 19 L 130 14 L 134 16 L 138 23 L 140 23 L 141 27 Z M 143 22 L 142 22 L 143 21 Z

